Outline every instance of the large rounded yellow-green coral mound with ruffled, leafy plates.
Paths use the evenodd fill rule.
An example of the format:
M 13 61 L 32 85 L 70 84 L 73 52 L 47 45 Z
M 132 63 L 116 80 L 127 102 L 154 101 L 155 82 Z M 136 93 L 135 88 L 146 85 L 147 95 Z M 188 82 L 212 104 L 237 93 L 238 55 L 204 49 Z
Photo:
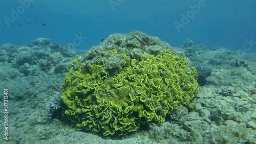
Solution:
M 105 136 L 161 124 L 197 94 L 197 71 L 157 37 L 112 34 L 76 58 L 61 95 L 63 116 L 77 130 Z

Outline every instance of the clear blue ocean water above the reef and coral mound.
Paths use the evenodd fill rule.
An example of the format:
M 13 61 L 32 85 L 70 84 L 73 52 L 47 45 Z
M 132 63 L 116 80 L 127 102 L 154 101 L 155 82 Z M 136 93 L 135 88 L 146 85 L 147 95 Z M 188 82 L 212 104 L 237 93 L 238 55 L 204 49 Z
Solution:
M 24 44 L 38 37 L 68 44 L 81 34 L 86 39 L 77 44 L 77 48 L 88 50 L 112 33 L 134 30 L 157 36 L 172 46 L 183 44 L 184 39 L 189 38 L 209 47 L 239 50 L 247 41 L 256 41 L 255 1 L 25 2 L 0 2 L 0 44 Z M 198 9 L 199 3 L 202 4 Z M 179 30 L 175 22 L 180 23 Z M 255 51 L 255 46 L 251 46 L 250 51 Z

